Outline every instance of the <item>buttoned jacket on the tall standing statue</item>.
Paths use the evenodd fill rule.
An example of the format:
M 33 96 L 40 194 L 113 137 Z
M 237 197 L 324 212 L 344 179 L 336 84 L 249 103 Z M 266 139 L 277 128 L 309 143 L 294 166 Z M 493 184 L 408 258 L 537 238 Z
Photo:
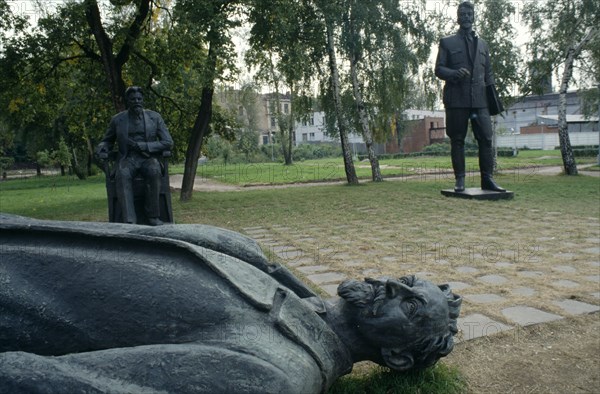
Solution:
M 446 81 L 443 101 L 446 108 L 486 108 L 486 86 L 494 84 L 487 43 L 474 37 L 474 56 L 467 50 L 464 35 L 457 33 L 442 38 L 435 62 L 435 75 Z M 452 78 L 454 70 L 466 68 L 470 77 Z

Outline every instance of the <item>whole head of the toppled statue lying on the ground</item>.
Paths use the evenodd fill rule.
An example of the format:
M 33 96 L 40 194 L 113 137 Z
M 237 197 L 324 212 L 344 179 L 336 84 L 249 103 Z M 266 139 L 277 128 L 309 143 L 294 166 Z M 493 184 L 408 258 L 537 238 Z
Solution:
M 448 285 L 405 276 L 347 280 L 338 294 L 351 305 L 358 334 L 372 361 L 404 371 L 432 366 L 448 355 L 462 299 Z

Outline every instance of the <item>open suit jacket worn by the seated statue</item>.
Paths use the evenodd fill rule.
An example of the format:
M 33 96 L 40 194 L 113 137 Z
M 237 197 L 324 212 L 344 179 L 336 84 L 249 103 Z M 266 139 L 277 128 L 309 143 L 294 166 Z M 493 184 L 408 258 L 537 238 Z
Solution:
M 160 153 L 169 150 L 173 146 L 173 139 L 167 131 L 167 126 L 158 112 L 144 110 L 144 125 L 146 129 L 146 141 L 148 151 Z M 112 147 L 115 140 L 119 148 L 119 156 L 127 155 L 127 140 L 129 139 L 129 112 L 122 111 L 112 117 L 108 130 L 101 143 Z

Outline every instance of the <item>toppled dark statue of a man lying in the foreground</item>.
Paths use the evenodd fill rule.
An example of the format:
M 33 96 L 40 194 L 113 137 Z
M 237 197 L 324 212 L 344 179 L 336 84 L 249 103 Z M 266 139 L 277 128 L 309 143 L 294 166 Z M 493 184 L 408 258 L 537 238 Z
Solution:
M 407 276 L 323 300 L 203 225 L 0 215 L 0 392 L 319 393 L 371 360 L 425 368 L 461 298 Z

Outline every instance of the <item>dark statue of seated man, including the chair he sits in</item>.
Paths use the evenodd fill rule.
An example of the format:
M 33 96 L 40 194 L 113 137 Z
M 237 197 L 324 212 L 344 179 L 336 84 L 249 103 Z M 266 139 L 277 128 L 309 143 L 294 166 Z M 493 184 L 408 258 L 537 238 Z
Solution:
M 173 139 L 159 113 L 143 108 L 142 88 L 125 91 L 127 110 L 118 113 L 96 148 L 106 173 L 106 190 L 111 222 L 158 226 L 173 222 L 169 174 L 165 157 Z M 114 168 L 111 152 L 116 146 Z M 136 178 L 142 178 L 136 193 Z M 136 195 L 137 194 L 137 195 Z M 138 203 L 137 199 L 143 200 Z

